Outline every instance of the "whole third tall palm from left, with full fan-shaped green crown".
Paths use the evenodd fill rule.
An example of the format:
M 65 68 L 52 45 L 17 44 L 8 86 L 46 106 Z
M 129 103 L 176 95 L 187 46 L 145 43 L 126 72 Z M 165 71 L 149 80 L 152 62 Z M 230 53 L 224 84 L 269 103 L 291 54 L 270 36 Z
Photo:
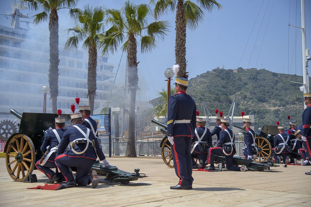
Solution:
M 128 90 L 129 118 L 128 118 L 128 146 L 127 157 L 136 157 L 135 150 L 135 100 L 138 89 L 137 74 L 137 42 L 140 42 L 141 52 L 150 52 L 156 48 L 157 41 L 163 40 L 169 31 L 168 21 L 155 21 L 149 24 L 151 11 L 148 5 L 135 5 L 126 1 L 118 9 L 108 9 L 107 23 L 111 28 L 105 32 L 103 42 L 104 53 L 114 53 L 122 45 L 122 50 L 127 51 L 128 58 Z

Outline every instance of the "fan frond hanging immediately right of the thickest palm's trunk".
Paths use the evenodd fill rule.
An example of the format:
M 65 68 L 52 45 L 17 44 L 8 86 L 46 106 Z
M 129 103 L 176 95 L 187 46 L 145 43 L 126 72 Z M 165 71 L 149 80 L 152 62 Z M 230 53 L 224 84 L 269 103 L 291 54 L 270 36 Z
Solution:
M 185 12 L 188 28 L 190 30 L 195 30 L 199 23 L 203 20 L 203 10 L 189 0 L 183 3 L 183 10 Z

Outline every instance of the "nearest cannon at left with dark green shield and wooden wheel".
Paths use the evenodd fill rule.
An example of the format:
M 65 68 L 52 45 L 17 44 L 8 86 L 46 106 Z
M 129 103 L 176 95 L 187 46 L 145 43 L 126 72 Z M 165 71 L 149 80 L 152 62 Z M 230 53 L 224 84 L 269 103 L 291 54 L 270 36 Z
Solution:
M 18 182 L 25 182 L 32 178 L 36 180 L 31 173 L 35 168 L 35 162 L 43 155 L 40 147 L 44 132 L 55 127 L 55 118 L 58 115 L 53 113 L 23 113 L 21 115 L 14 109 L 10 112 L 21 119 L 21 123 L 19 131 L 8 138 L 4 147 L 7 172 L 13 180 Z M 62 114 L 62 117 L 66 120 L 65 127 L 72 126 L 69 114 Z M 75 171 L 73 168 L 72 170 Z M 139 173 L 138 168 L 135 169 L 135 173 L 128 173 L 117 167 L 104 167 L 103 163 L 98 162 L 94 163 L 91 170 L 95 170 L 98 175 L 105 176 L 108 182 L 121 182 L 122 184 L 146 177 L 145 174 Z

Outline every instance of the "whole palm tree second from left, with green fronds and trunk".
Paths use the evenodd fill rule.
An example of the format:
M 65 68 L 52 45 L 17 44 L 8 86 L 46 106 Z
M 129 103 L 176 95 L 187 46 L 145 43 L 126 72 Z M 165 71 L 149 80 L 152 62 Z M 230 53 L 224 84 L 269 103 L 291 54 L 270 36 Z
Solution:
M 75 12 L 75 18 L 78 24 L 67 31 L 72 31 L 73 36 L 67 39 L 65 49 L 77 49 L 83 41 L 82 48 L 88 49 L 89 62 L 87 70 L 87 95 L 91 114 L 94 111 L 94 101 L 96 96 L 96 66 L 97 66 L 97 48 L 100 46 L 100 39 L 103 38 L 103 29 L 105 16 L 104 7 L 89 7 L 86 5 L 83 11 Z

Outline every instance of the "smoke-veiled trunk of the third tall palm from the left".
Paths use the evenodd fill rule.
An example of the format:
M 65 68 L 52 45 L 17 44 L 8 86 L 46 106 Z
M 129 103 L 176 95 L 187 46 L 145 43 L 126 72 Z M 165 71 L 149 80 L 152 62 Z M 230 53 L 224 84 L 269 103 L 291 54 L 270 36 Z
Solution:
M 135 148 L 135 101 L 138 85 L 137 73 L 137 44 L 133 34 L 128 37 L 128 90 L 130 92 L 129 99 L 129 117 L 128 117 L 128 146 L 126 157 L 136 157 Z

